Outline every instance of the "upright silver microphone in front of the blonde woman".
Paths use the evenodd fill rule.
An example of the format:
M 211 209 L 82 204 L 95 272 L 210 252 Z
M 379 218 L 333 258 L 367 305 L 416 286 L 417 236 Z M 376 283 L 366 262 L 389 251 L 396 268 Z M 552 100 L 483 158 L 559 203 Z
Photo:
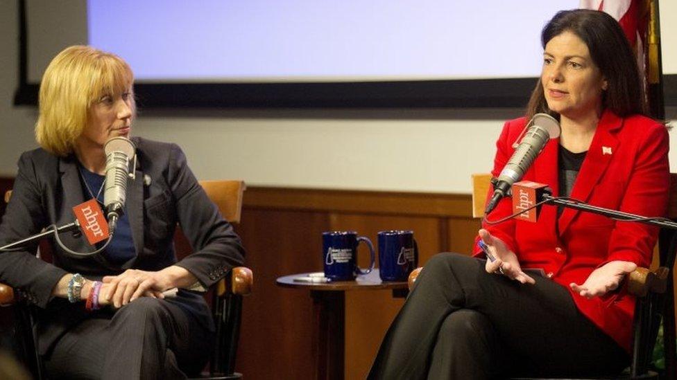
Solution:
M 130 176 L 129 163 L 136 158 L 136 147 L 128 138 L 118 136 L 106 141 L 103 145 L 103 151 L 106 155 L 103 206 L 112 233 L 123 213 L 127 194 L 127 179 L 129 177 L 134 178 L 133 169 Z M 136 166 L 136 159 L 134 162 Z

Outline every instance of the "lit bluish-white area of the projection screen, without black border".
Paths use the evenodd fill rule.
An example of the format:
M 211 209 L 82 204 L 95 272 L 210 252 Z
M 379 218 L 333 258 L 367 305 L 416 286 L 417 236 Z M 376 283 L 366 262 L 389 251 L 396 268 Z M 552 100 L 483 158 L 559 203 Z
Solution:
M 577 4 L 89 0 L 87 26 L 148 82 L 524 78 L 540 69 L 542 26 Z

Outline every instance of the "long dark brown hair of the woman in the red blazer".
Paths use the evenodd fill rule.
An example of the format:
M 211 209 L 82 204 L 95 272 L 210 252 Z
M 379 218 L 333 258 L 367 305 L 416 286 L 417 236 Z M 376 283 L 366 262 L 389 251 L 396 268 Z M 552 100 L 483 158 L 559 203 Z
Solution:
M 543 28 L 543 48 L 553 37 L 564 32 L 574 33 L 585 42 L 592 61 L 606 78 L 608 87 L 602 95 L 602 106 L 621 117 L 646 115 L 646 98 L 637 60 L 618 22 L 597 10 L 562 10 Z M 531 119 L 541 112 L 559 118 L 548 108 L 539 78 L 526 106 L 526 116 Z

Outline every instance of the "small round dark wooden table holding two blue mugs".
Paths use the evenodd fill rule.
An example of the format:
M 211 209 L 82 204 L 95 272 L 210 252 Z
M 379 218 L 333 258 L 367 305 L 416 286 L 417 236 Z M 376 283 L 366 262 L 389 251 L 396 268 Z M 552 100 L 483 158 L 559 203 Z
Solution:
M 316 324 L 313 330 L 313 350 L 316 359 L 316 379 L 343 379 L 345 291 L 392 289 L 393 297 L 406 297 L 406 281 L 384 282 L 379 270 L 358 275 L 354 281 L 298 282 L 294 278 L 309 273 L 284 275 L 277 285 L 293 289 L 307 289 L 313 299 Z

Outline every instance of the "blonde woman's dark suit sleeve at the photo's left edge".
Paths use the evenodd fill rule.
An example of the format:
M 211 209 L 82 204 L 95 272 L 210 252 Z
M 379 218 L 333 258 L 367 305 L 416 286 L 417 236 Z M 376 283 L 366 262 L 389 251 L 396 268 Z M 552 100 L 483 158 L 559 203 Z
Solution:
M 47 225 L 40 183 L 31 152 L 19 159 L 12 198 L 0 224 L 0 246 L 39 233 Z M 0 252 L 0 282 L 17 288 L 29 301 L 46 307 L 55 284 L 67 271 L 35 257 L 36 245 L 22 251 Z

